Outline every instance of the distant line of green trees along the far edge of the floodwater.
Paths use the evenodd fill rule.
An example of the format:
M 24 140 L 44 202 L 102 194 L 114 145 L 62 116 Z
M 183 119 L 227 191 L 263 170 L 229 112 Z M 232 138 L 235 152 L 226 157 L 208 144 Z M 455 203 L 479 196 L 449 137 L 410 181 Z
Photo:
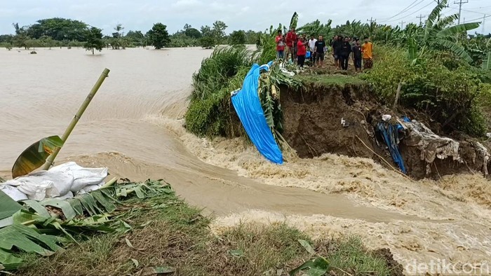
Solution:
M 213 25 L 202 26 L 200 29 L 186 24 L 183 29 L 169 34 L 167 26 L 159 22 L 146 33 L 137 30 L 125 33 L 123 25 L 118 24 L 114 27 L 112 35 L 104 36 L 102 29 L 89 26 L 79 20 L 48 18 L 23 27 L 13 23 L 15 34 L 0 35 L 0 46 L 8 49 L 65 46 L 85 47 L 88 50 L 102 50 L 102 48 L 117 50 L 145 46 L 154 46 L 157 49 L 190 46 L 213 48 L 220 44 L 257 43 L 259 32 L 239 30 L 227 35 L 225 33 L 227 27 L 222 21 L 215 21 Z

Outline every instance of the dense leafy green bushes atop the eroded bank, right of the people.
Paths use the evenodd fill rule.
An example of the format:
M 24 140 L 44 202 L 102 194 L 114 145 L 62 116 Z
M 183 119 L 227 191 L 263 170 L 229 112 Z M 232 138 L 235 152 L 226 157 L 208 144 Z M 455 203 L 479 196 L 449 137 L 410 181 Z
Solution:
M 434 51 L 427 60 L 410 64 L 405 50 L 377 47 L 373 69 L 363 78 L 372 83 L 379 99 L 394 102 L 399 82 L 403 82 L 401 104 L 428 113 L 447 132 L 453 130 L 473 136 L 485 132 L 485 120 L 479 108 L 490 85 L 468 64 L 449 53 Z

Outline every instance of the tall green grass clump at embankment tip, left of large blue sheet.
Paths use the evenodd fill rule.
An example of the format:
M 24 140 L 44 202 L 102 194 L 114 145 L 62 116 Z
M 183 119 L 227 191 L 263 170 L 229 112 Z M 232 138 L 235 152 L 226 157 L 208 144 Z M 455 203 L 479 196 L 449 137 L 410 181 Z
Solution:
M 201 63 L 193 75 L 186 127 L 203 137 L 234 137 L 241 125 L 234 116 L 230 92 L 241 88 L 252 62 L 244 48 L 220 48 Z

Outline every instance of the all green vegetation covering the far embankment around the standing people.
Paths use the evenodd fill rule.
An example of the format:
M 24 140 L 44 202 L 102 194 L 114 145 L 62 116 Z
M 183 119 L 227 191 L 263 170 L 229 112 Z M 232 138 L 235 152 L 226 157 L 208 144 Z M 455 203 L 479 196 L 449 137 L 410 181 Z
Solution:
M 342 76 L 328 70 L 327 74 L 320 75 L 301 73 L 291 80 L 297 81 L 295 87 L 298 89 L 303 89 L 300 82 L 322 85 L 369 83 L 379 102 L 388 105 L 394 103 L 401 84 L 402 106 L 427 113 L 447 133 L 456 131 L 483 136 L 487 125 L 482 108 L 491 102 L 491 35 L 467 37 L 466 32 L 479 24 L 453 25 L 457 15 L 440 17 L 446 2 L 440 2 L 433 9 L 424 25 L 408 25 L 405 29 L 359 21 L 331 27 L 330 20 L 326 24 L 316 20 L 297 27 L 295 13 L 289 27 L 297 27 L 298 34 L 323 35 L 328 39 L 335 34 L 358 38 L 370 36 L 375 43 L 375 62 L 373 69 L 360 76 Z M 208 137 L 243 134 L 231 131 L 241 130 L 241 127 L 231 107 L 230 92 L 241 88 L 241 81 L 251 64 L 265 64 L 276 59 L 274 36 L 278 29 L 287 31 L 283 25 L 271 26 L 260 34 L 255 52 L 236 48 L 215 50 L 211 57 L 203 60 L 201 69 L 194 76 L 194 91 L 186 115 L 189 131 Z M 238 53 L 241 58 L 229 58 Z M 329 59 L 330 55 L 326 57 Z M 263 109 L 266 115 L 271 113 Z M 278 114 L 275 125 L 281 125 L 279 102 L 273 113 Z

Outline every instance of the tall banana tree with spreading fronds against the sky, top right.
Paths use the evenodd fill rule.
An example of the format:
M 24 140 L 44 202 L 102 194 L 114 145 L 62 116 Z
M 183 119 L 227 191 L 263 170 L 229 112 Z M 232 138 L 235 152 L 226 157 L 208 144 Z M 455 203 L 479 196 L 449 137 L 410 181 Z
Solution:
M 467 53 L 462 43 L 459 43 L 459 34 L 466 34 L 471 29 L 479 27 L 479 22 L 469 22 L 451 26 L 459 15 L 449 15 L 438 19 L 448 0 L 443 0 L 431 11 L 425 22 L 424 35 L 422 37 L 413 36 L 408 39 L 408 51 L 410 59 L 416 63 L 424 56 L 429 49 L 440 48 L 449 50 L 457 57 L 472 63 L 472 57 Z

